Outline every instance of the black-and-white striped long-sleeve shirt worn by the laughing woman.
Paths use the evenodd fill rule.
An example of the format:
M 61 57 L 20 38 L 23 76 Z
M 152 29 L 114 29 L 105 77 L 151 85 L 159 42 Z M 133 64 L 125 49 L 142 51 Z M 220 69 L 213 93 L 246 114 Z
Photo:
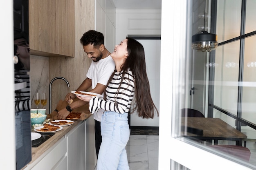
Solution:
M 122 74 L 124 80 L 121 83 Z M 118 88 L 120 86 L 119 91 Z M 127 73 L 116 72 L 110 84 L 106 88 L 106 100 L 99 97 L 92 97 L 90 100 L 90 112 L 94 113 L 100 108 L 106 111 L 117 113 L 128 113 L 134 95 L 134 78 L 131 71 Z

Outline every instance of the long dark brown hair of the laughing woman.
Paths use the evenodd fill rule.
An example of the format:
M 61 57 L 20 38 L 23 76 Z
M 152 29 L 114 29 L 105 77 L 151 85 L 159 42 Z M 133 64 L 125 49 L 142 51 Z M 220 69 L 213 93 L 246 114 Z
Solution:
M 124 64 L 121 66 L 121 71 L 124 71 L 125 73 L 130 69 L 135 80 L 135 104 L 131 110 L 131 114 L 136 110 L 139 117 L 153 119 L 155 113 L 157 116 L 159 116 L 159 112 L 150 94 L 149 81 L 146 73 L 144 48 L 137 40 L 132 38 L 126 39 L 128 57 L 126 58 Z M 114 76 L 115 72 L 116 70 L 114 73 L 112 73 L 112 76 L 110 76 L 108 84 Z M 121 82 L 124 79 L 124 75 L 125 74 L 122 74 Z

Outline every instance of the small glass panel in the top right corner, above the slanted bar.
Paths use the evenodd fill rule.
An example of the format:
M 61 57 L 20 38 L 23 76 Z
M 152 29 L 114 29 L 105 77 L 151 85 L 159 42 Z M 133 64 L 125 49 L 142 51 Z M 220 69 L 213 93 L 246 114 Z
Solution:
M 256 30 L 256 0 L 246 1 L 246 20 L 245 20 L 245 33 L 250 33 Z

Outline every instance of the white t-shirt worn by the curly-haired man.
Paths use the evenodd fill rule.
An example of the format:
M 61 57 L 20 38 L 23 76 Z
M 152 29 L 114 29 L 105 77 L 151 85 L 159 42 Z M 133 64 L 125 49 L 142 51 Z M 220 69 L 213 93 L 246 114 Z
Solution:
M 92 88 L 95 88 L 98 83 L 107 85 L 110 75 L 115 70 L 115 62 L 113 61 L 110 55 L 106 58 L 99 60 L 98 62 L 93 62 L 90 65 L 90 68 L 86 74 L 86 77 L 92 79 Z M 104 93 L 104 92 L 103 92 Z M 102 96 L 103 96 L 102 93 Z M 93 113 L 93 118 L 97 121 L 101 121 L 101 115 L 103 109 L 98 110 Z

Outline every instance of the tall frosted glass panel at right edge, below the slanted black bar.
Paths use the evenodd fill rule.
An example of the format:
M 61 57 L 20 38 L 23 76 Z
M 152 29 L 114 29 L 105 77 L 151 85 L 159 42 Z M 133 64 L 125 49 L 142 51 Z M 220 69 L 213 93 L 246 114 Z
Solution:
M 256 36 L 245 39 L 242 118 L 256 124 Z

